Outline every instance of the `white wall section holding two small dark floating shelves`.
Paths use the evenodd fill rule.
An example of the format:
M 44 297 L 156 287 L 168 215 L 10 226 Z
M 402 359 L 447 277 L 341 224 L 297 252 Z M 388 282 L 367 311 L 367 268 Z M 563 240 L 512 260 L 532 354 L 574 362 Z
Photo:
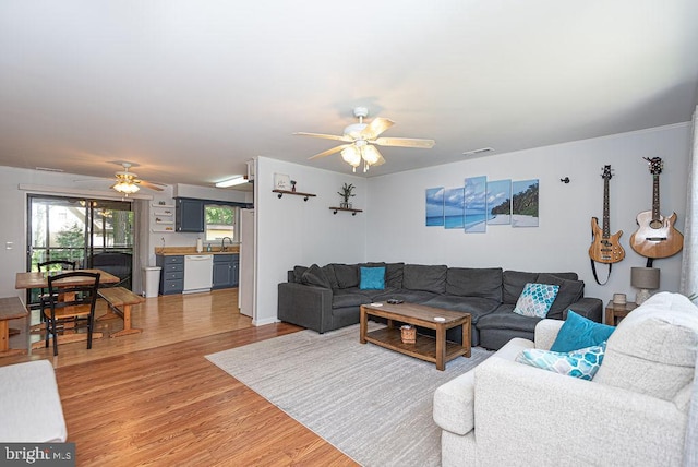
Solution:
M 274 189 L 274 173 L 297 180 L 302 196 L 284 195 Z M 354 208 L 366 208 L 366 180 L 351 172 L 338 173 L 265 157 L 257 158 L 255 178 L 255 217 L 257 223 L 256 311 L 254 323 L 276 321 L 277 285 L 286 282 L 286 272 L 297 264 L 357 262 L 364 255 L 366 218 L 329 211 L 341 201 L 337 191 L 344 183 L 357 187 L 351 199 Z

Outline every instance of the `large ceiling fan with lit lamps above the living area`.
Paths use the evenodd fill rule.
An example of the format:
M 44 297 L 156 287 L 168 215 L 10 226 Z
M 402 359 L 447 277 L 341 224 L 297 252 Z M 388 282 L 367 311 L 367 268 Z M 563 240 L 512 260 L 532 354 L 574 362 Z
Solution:
M 309 159 L 317 159 L 321 157 L 329 156 L 335 153 L 341 153 L 341 158 L 353 167 L 353 171 L 357 171 L 357 167 L 363 161 L 363 171 L 368 171 L 371 166 L 380 166 L 385 164 L 385 159 L 378 152 L 378 146 L 399 146 L 399 147 L 418 147 L 429 149 L 434 146 L 434 140 L 420 140 L 414 137 L 378 137 L 381 133 L 393 127 L 395 123 L 393 120 L 386 118 L 376 117 L 371 123 L 364 123 L 363 119 L 369 115 L 369 109 L 365 107 L 357 107 L 353 109 L 353 116 L 359 119 L 359 123 L 352 123 L 345 128 L 341 136 L 335 134 L 322 134 L 322 133 L 303 133 L 298 132 L 300 136 L 322 137 L 325 140 L 342 141 L 347 144 L 340 144 L 330 149 L 324 151 L 320 154 L 315 154 Z

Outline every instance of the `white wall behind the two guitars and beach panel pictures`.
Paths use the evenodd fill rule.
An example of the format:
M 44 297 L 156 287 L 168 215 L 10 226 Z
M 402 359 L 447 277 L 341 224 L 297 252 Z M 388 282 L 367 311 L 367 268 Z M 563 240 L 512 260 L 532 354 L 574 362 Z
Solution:
M 664 161 L 660 176 L 661 213 L 676 212 L 676 228 L 683 231 L 686 205 L 686 167 L 690 129 L 688 123 L 606 137 L 570 142 L 464 160 L 369 180 L 366 202 L 366 259 L 405 261 L 450 266 L 488 267 L 533 272 L 577 272 L 586 283 L 586 295 L 610 300 L 614 292 L 628 294 L 630 267 L 645 266 L 646 259 L 628 246 L 637 229 L 636 215 L 652 207 L 652 176 L 642 157 Z M 624 261 L 616 263 L 611 279 L 599 286 L 588 255 L 590 220 L 603 215 L 602 167 L 611 165 L 610 230 L 623 230 Z M 424 191 L 455 188 L 466 177 L 488 180 L 540 180 L 540 227 L 488 226 L 484 234 L 465 234 L 424 226 Z M 561 178 L 569 177 L 565 184 Z M 681 253 L 654 260 L 661 268 L 661 289 L 676 291 Z M 600 279 L 605 265 L 598 265 Z

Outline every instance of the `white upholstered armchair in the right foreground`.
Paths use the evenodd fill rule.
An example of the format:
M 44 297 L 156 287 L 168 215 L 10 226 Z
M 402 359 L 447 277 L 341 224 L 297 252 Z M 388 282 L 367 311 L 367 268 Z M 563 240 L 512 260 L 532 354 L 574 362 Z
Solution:
M 541 321 L 535 343 L 512 339 L 436 390 L 444 467 L 681 465 L 698 308 L 677 294 L 648 300 L 611 335 L 593 381 L 514 361 L 549 349 L 562 324 Z

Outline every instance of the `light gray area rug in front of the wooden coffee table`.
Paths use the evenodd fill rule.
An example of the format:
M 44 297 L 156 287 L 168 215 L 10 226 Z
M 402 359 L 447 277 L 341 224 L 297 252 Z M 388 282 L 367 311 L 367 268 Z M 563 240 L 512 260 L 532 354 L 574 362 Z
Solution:
M 441 464 L 434 391 L 491 355 L 476 347 L 471 358 L 438 371 L 359 344 L 354 325 L 325 334 L 301 331 L 206 358 L 357 463 L 422 467 Z

